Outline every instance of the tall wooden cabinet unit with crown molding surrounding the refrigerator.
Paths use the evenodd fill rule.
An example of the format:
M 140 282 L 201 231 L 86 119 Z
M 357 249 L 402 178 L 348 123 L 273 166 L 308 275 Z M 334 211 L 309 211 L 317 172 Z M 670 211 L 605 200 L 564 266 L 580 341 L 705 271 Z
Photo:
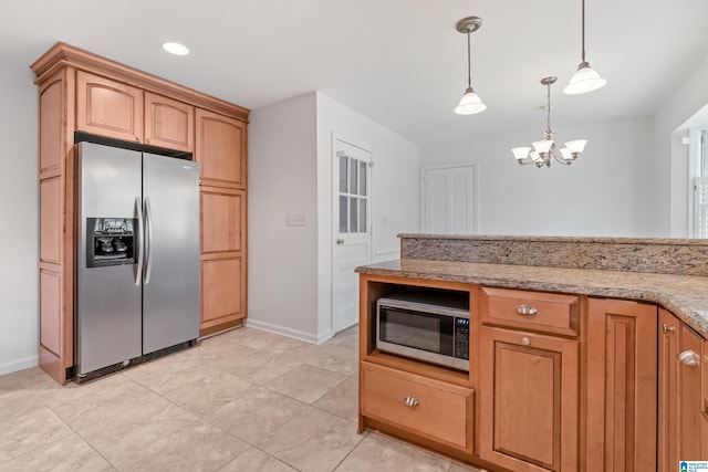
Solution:
M 200 162 L 200 335 L 243 323 L 249 109 L 61 42 L 31 69 L 39 87 L 40 366 L 65 384 L 75 363 L 75 132 Z

